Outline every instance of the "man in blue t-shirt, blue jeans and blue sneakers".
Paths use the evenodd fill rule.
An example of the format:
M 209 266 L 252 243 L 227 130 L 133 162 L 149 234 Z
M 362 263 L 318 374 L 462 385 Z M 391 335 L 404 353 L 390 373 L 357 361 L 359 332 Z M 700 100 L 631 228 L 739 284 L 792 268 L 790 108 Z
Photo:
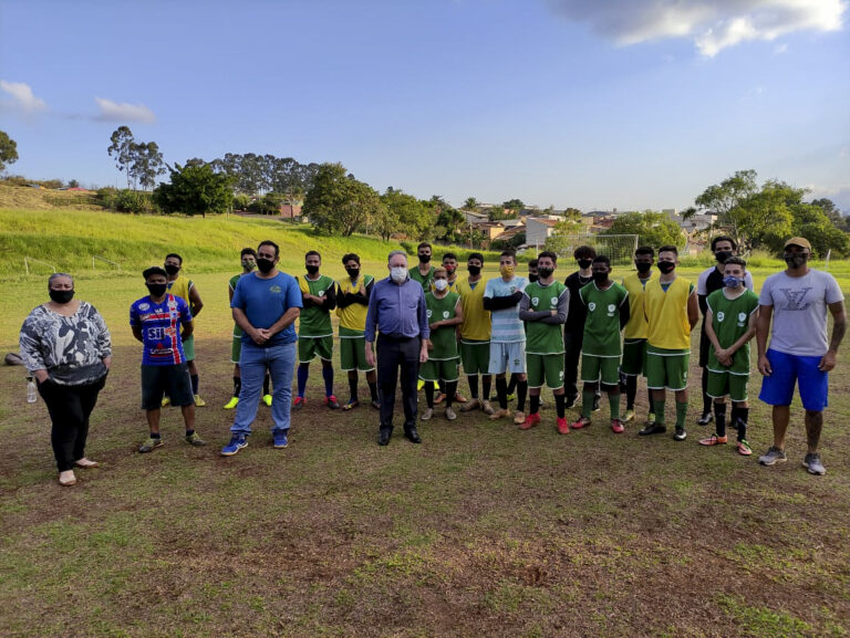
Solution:
M 242 328 L 239 356 L 242 389 L 230 428 L 230 442 L 221 450 L 224 457 L 232 457 L 248 444 L 267 369 L 274 388 L 271 401 L 273 444 L 276 449 L 289 444 L 292 370 L 298 341 L 292 324 L 301 312 L 301 291 L 293 276 L 277 269 L 279 258 L 277 243 L 261 242 L 257 248 L 257 272 L 239 279 L 230 302 L 234 321 Z

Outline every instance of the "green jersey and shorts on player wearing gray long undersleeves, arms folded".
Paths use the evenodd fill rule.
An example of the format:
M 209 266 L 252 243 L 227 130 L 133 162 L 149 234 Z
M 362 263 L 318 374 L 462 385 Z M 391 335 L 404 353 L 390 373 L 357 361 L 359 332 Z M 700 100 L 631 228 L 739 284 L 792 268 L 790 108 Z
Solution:
M 529 283 L 525 291 L 520 311 L 568 312 L 570 291 L 559 281 L 549 285 Z M 563 332 L 560 323 L 543 321 L 526 322 L 526 367 L 528 387 L 540 388 L 546 383 L 551 389 L 563 387 Z

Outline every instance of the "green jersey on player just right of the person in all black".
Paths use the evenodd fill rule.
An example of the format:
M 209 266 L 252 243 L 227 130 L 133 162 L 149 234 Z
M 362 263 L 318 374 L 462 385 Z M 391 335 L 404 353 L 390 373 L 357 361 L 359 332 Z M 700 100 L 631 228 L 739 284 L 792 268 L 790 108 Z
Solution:
M 579 297 L 588 308 L 581 352 L 597 357 L 619 357 L 622 354 L 620 307 L 629 293 L 616 282 L 605 290 L 599 290 L 595 282 L 590 282 L 579 290 Z

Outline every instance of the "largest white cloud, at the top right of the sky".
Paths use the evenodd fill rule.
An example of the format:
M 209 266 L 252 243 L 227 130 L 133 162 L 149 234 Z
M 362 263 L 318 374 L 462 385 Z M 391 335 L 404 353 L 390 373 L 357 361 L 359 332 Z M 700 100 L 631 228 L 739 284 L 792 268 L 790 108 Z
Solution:
M 838 31 L 847 0 L 549 0 L 556 13 L 588 22 L 621 45 L 686 38 L 705 56 L 742 42 L 796 31 Z

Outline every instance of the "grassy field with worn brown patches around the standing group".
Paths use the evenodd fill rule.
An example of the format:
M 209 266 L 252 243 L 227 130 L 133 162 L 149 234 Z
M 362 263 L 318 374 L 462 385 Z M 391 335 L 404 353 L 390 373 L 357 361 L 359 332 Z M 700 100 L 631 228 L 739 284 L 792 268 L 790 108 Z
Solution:
M 146 226 L 152 237 L 156 221 Z M 186 224 L 177 229 L 187 240 L 204 223 L 177 221 Z M 33 223 L 21 232 L 61 240 L 70 228 L 64 223 Z M 139 276 L 90 274 L 77 282 L 77 295 L 94 303 L 112 330 L 115 367 L 92 419 L 89 453 L 102 467 L 79 471 L 75 488 L 56 484 L 46 410 L 41 401 L 25 404 L 22 369 L 0 369 L 7 441 L 0 449 L 0 636 L 850 631 L 843 355 L 831 378 L 822 478 L 799 466 L 798 404 L 789 462 L 770 469 L 732 446 L 698 446 L 706 430 L 695 425 L 695 405 L 691 437 L 681 443 L 640 439 L 634 425 L 616 437 L 605 427 L 604 407 L 589 430 L 559 436 L 548 393 L 543 423 L 528 432 L 473 412 L 424 423 L 422 446 L 408 444 L 398 428 L 391 444 L 379 448 L 374 411 L 321 407 L 318 368 L 287 450 L 270 447 L 271 419 L 261 407 L 251 444 L 225 459 L 218 451 L 232 419 L 220 408 L 231 376 L 226 289 L 238 263 L 232 247 L 248 238 L 231 241 L 209 226 L 200 234 L 222 244 L 220 257 L 209 247 L 197 249 L 197 261 L 187 257 L 206 303 L 196 330 L 208 402 L 198 410 L 198 431 L 208 447 L 183 443 L 179 414 L 166 410 L 166 446 L 135 452 L 146 428 L 137 409 L 141 352 L 127 308 L 145 293 Z M 174 248 L 135 226 L 126 237 L 115 234 L 116 251 L 125 240 L 149 250 L 141 263 L 160 263 Z M 287 244 L 290 268 L 300 264 L 303 241 Z M 190 244 L 179 249 L 193 255 Z M 367 269 L 381 272 L 385 251 L 376 245 Z M 7 258 L 0 258 L 3 268 Z M 66 259 L 84 265 L 82 258 Z M 342 274 L 338 258 L 325 262 L 329 274 Z M 695 279 L 698 270 L 683 274 Z M 830 270 L 850 293 L 849 264 Z M 755 270 L 757 285 L 769 272 Z M 3 274 L 0 346 L 10 351 L 23 317 L 45 301 L 46 278 Z M 756 374 L 749 439 L 757 453 L 770 441 L 769 412 L 755 400 L 759 384 Z M 344 397 L 344 379 L 338 377 L 336 387 Z

